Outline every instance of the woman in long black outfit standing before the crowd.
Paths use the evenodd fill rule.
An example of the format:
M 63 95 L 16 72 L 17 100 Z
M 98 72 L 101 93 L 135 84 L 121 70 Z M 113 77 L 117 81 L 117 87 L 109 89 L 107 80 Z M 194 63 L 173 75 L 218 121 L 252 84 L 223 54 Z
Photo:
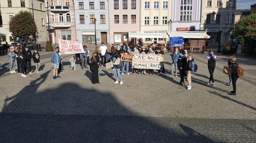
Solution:
M 97 54 L 93 53 L 89 61 L 90 71 L 92 73 L 92 84 L 99 84 L 99 62 L 97 61 Z

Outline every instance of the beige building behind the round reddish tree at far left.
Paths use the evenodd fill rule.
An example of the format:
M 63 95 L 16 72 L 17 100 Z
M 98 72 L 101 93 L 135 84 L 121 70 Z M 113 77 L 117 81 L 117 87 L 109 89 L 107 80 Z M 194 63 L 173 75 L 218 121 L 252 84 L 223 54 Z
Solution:
M 44 43 L 47 39 L 47 30 L 45 28 L 45 3 L 44 0 L 0 0 L 1 3 L 1 15 L 2 15 L 2 27 L 9 30 L 9 21 L 20 10 L 29 10 L 34 12 L 34 20 L 37 26 L 37 42 Z M 1 36 L 1 42 L 13 42 L 12 36 Z

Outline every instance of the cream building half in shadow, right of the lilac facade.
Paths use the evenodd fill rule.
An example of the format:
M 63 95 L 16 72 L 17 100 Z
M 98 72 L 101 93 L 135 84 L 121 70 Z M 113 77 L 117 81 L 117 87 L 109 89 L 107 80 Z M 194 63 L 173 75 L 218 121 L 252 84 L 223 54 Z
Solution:
M 229 43 L 235 18 L 235 7 L 236 0 L 202 1 L 202 17 L 200 30 L 207 30 L 207 34 L 211 36 L 211 38 L 208 40 L 209 46 L 218 45 L 220 33 L 221 44 Z

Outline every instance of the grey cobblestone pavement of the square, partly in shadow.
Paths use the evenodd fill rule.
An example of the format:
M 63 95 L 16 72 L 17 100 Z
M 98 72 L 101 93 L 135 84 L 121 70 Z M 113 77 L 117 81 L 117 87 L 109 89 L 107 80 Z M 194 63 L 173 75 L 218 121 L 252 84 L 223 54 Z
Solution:
M 193 54 L 199 70 L 192 75 L 190 91 L 177 84 L 179 77 L 157 76 L 157 71 L 154 75 L 125 74 L 122 76 L 124 84 L 119 85 L 114 84 L 114 71 L 101 68 L 101 84 L 94 85 L 91 84 L 89 70 L 82 70 L 79 65 L 76 65 L 77 72 L 69 69 L 68 59 L 72 55 L 64 56 L 64 73 L 60 74 L 61 78 L 54 80 L 49 62 L 51 53 L 41 51 L 40 55 L 43 69 L 40 74 L 34 72 L 24 78 L 8 73 L 7 64 L 6 68 L 0 68 L 0 124 L 3 125 L 0 128 L 6 130 L 2 138 L 0 134 L 1 142 L 12 142 L 10 137 L 17 135 L 24 135 L 17 142 L 176 142 L 176 138 L 177 142 L 255 142 L 255 58 L 237 55 L 239 65 L 244 68 L 244 76 L 237 80 L 237 95 L 231 96 L 228 93 L 232 87 L 226 85 L 228 77 L 222 73 L 229 57 L 221 54 L 217 54 L 215 87 L 206 84 L 209 81 L 207 54 Z M 164 61 L 168 71 L 170 56 L 167 53 Z M 8 63 L 7 56 L 0 56 L 0 63 Z M 185 120 L 180 126 L 176 118 L 196 119 Z M 223 128 L 210 126 L 208 122 L 216 119 L 226 119 L 223 122 L 217 120 Z M 189 124 L 190 120 L 195 124 Z M 240 122 L 246 122 L 246 127 Z M 104 126 L 101 128 L 102 124 Z M 83 132 L 83 127 L 88 126 L 91 128 Z M 113 130 L 110 130 L 112 127 Z M 149 128 L 150 133 L 143 134 L 143 128 Z M 182 133 L 183 128 L 187 132 Z M 33 132 L 36 129 L 38 132 Z M 226 132 L 227 138 L 217 137 Z M 124 133 L 124 137 L 121 133 Z M 30 136 L 32 134 L 35 137 Z M 59 137 L 53 140 L 50 135 Z M 60 138 L 62 135 L 63 138 Z M 188 140 L 191 136 L 198 140 Z

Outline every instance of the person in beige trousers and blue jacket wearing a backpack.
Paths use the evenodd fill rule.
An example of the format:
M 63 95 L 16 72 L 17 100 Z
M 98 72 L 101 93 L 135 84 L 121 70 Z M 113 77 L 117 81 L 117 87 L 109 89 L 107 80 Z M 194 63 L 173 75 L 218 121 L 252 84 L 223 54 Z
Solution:
M 187 62 L 187 65 L 186 65 L 187 82 L 188 82 L 187 90 L 190 90 L 192 87 L 191 86 L 191 76 L 192 76 L 192 74 L 194 74 L 194 68 L 195 68 L 195 62 L 194 62 L 193 56 L 190 54 L 189 61 Z

